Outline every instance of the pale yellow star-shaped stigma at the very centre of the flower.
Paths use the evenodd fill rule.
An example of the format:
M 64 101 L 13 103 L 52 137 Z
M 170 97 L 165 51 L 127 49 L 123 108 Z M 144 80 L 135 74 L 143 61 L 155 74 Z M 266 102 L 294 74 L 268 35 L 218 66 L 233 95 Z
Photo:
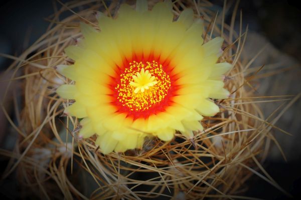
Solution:
M 137 94 L 139 90 L 144 92 L 144 90 L 148 90 L 149 87 L 156 85 L 158 82 L 154 81 L 155 76 L 149 74 L 148 70 L 144 71 L 144 68 L 141 69 L 140 73 L 137 72 L 136 76 L 132 76 L 134 82 L 130 82 L 129 84 L 136 87 L 134 93 Z

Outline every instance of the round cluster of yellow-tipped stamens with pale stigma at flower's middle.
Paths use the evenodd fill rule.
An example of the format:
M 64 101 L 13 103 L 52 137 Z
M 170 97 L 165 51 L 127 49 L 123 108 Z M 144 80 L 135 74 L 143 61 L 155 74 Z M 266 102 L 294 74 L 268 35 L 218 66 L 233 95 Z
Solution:
M 157 62 L 129 63 L 120 74 L 117 100 L 130 111 L 145 111 L 158 105 L 168 94 L 171 80 Z

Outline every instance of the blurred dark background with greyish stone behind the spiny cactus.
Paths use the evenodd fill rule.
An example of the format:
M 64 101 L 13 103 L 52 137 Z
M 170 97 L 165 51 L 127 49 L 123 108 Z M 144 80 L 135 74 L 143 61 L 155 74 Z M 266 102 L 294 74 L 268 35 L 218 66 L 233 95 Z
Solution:
M 63 1 L 66 2 L 66 1 Z M 108 1 L 107 1 L 108 2 Z M 223 1 L 210 1 L 215 6 L 214 10 L 221 13 Z M 232 5 L 226 16 L 226 23 L 230 24 L 232 11 L 236 1 L 227 1 Z M 33 44 L 48 27 L 45 20 L 53 14 L 53 6 L 60 6 L 55 1 L 1 1 L 0 3 L 0 53 L 13 56 Z M 241 1 L 238 6 L 235 29 L 239 31 L 239 12 L 242 11 L 243 30 L 249 26 L 246 46 L 243 51 L 243 59 L 252 59 L 258 51 L 266 45 L 263 53 L 256 59 L 253 66 L 273 64 L 274 70 L 290 68 L 274 76 L 258 79 L 260 84 L 258 96 L 298 94 L 301 92 L 301 10 L 298 1 Z M 63 16 L 64 17 L 64 16 Z M 11 64 L 12 60 L 0 56 L 0 80 L 5 80 L 3 72 Z M 0 84 L 0 97 L 4 93 L 5 82 Z M 10 92 L 10 91 L 9 91 Z M 4 102 L 10 107 L 11 102 Z M 262 109 L 267 117 L 277 108 L 278 104 L 263 104 Z M 274 131 L 281 148 L 287 158 L 284 161 L 279 150 L 273 147 L 270 156 L 264 164 L 266 171 L 286 191 L 296 199 L 301 199 L 301 103 L 297 101 L 279 120 L 276 125 L 290 132 L 293 136 L 284 135 Z M 11 116 L 14 112 L 11 109 Z M 0 145 L 1 148 L 11 149 L 15 141 L 13 136 L 7 133 L 10 130 L 9 123 L 4 113 L 0 110 Z M 1 171 L 4 170 L 7 160 L 0 159 Z M 14 180 L 0 182 L 0 196 L 17 198 Z M 249 190 L 244 194 L 264 199 L 287 198 L 279 190 L 269 183 L 253 176 L 249 182 Z

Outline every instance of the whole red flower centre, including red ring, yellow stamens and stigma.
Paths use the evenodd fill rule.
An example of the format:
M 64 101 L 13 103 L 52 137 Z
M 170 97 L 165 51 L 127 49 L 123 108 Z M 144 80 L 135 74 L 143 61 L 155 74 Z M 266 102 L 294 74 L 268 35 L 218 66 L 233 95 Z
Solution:
M 112 77 L 112 105 L 117 112 L 126 113 L 133 119 L 148 118 L 149 115 L 165 111 L 173 101 L 176 86 L 175 76 L 166 62 L 152 60 L 127 62 L 123 70 Z

